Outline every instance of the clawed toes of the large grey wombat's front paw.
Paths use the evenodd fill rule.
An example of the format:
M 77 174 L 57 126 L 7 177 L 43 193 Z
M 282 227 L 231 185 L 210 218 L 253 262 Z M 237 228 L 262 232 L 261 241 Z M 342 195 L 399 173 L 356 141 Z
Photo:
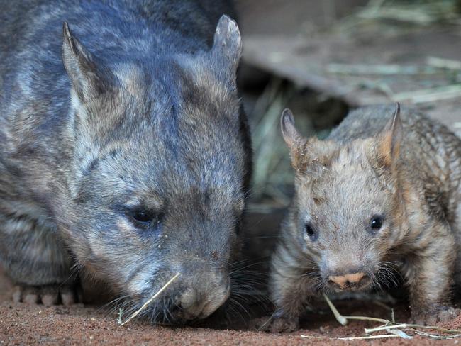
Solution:
M 77 303 L 77 292 L 74 287 L 66 285 L 16 286 L 13 290 L 13 301 L 27 304 L 43 303 L 44 306 L 63 304 L 70 306 Z

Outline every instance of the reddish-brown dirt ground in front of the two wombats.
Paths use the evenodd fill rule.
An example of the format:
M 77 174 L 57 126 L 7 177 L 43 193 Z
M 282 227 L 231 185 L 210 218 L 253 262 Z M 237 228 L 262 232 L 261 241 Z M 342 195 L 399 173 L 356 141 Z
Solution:
M 302 323 L 298 332 L 278 335 L 257 330 L 154 327 L 139 322 L 121 327 L 116 322 L 117 316 L 98 306 L 28 306 L 12 303 L 10 294 L 11 284 L 0 275 L 1 345 L 344 345 L 346 341 L 332 338 L 362 336 L 363 328 L 376 326 L 370 322 L 352 322 L 343 327 L 325 310 Z M 338 301 L 335 304 L 343 314 L 390 318 L 389 311 L 371 302 Z M 405 308 L 396 308 L 398 320 L 405 320 L 406 316 Z M 461 316 L 444 326 L 461 328 Z M 413 340 L 360 340 L 354 345 L 431 345 L 434 342 L 416 336 Z M 437 343 L 455 345 L 457 342 L 459 340 Z

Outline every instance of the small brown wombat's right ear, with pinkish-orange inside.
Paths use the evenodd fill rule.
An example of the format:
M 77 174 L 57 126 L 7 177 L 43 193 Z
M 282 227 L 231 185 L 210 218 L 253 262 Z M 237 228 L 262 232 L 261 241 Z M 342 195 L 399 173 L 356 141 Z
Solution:
M 400 143 L 403 136 L 400 119 L 400 104 L 396 103 L 394 116 L 387 122 L 378 138 L 378 160 L 384 167 L 391 167 L 392 162 L 399 157 Z

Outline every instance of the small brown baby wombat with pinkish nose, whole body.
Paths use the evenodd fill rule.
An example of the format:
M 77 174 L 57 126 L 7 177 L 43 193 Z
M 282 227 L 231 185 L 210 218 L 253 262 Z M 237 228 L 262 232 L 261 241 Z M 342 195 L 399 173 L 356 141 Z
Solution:
M 327 140 L 301 137 L 285 110 L 282 134 L 296 178 L 272 258 L 272 330 L 298 328 L 309 296 L 379 288 L 396 271 L 413 321 L 452 316 L 461 140 L 399 105 L 352 111 Z

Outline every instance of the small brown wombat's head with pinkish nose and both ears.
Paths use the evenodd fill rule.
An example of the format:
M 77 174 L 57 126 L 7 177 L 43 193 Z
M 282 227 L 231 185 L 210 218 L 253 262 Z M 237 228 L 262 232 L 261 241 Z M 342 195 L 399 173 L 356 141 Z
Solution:
M 301 137 L 291 112 L 282 114 L 282 134 L 296 170 L 289 236 L 318 289 L 353 291 L 393 279 L 385 261 L 402 233 L 395 177 L 399 108 L 389 118 L 376 138 L 343 145 Z

